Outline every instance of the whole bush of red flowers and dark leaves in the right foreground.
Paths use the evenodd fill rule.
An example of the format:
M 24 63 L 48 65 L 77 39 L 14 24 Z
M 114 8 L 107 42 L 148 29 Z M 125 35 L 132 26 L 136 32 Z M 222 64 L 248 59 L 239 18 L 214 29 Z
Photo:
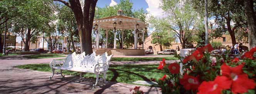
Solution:
M 211 56 L 212 50 L 212 46 L 207 45 L 185 58 L 175 55 L 179 63 L 166 64 L 163 59 L 157 68 L 165 72 L 157 80 L 162 93 L 255 94 L 256 48 L 244 53 L 241 61 L 227 55 Z

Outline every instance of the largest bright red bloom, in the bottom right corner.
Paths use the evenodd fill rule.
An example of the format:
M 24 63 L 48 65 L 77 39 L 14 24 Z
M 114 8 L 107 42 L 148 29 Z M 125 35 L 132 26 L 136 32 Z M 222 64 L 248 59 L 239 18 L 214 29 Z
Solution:
M 231 91 L 234 94 L 248 92 L 248 89 L 254 89 L 256 84 L 253 79 L 249 79 L 248 75 L 243 72 L 244 66 L 241 64 L 236 67 L 227 66 L 224 63 L 221 66 L 221 73 L 232 81 Z

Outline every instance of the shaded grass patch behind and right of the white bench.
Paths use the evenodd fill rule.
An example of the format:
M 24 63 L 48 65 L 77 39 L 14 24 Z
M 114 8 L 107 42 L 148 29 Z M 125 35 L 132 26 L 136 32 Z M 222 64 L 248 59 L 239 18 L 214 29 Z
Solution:
M 167 65 L 168 66 L 168 65 Z M 27 65 L 20 65 L 15 66 L 16 68 L 21 69 L 32 69 L 36 71 L 45 71 L 51 72 L 51 68 L 49 64 L 27 64 Z M 152 64 L 144 64 L 144 65 L 135 65 L 135 64 L 126 64 L 126 65 L 110 65 L 107 71 L 106 79 L 107 81 L 114 81 L 114 82 L 123 82 L 128 84 L 133 84 L 134 81 L 150 81 L 150 78 L 159 79 L 162 78 L 164 75 L 163 71 L 157 69 L 158 65 Z M 59 72 L 57 70 L 56 72 Z M 79 76 L 78 72 L 74 71 L 66 71 L 64 70 L 63 73 L 65 75 L 73 75 Z M 89 77 L 95 79 L 95 74 L 86 73 L 83 74 L 83 77 Z M 103 74 L 99 76 L 103 78 Z

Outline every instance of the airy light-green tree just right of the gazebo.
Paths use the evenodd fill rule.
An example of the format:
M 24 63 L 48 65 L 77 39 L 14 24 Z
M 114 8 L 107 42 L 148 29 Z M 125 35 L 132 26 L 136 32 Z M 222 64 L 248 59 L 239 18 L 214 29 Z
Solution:
M 190 34 L 199 22 L 198 13 L 191 8 L 189 0 L 160 0 L 160 8 L 166 13 L 163 18 L 151 17 L 152 28 L 158 31 L 172 31 L 179 38 L 182 48 L 192 43 Z

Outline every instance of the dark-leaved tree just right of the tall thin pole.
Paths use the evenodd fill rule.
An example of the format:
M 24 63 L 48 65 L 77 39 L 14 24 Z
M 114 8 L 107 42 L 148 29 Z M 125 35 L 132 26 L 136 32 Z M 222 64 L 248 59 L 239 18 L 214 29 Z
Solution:
M 191 1 L 193 8 L 199 13 L 204 13 L 204 0 Z M 243 2 L 244 0 L 208 0 L 209 15 L 215 18 L 217 28 L 229 32 L 233 45 L 236 44 L 235 30 L 246 28 L 247 24 Z

